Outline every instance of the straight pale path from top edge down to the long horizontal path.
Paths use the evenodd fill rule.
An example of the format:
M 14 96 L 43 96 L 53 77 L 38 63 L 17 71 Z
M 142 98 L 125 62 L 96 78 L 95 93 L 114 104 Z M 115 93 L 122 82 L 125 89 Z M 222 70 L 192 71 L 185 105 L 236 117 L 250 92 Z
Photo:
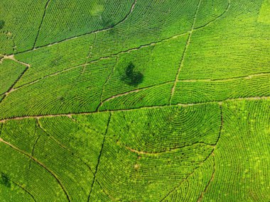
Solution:
M 195 11 L 195 16 L 194 16 L 194 18 L 193 18 L 193 25 L 192 25 L 192 27 L 191 27 L 191 29 L 190 29 L 190 31 L 189 31 L 188 40 L 187 40 L 187 42 L 185 43 L 185 48 L 184 48 L 184 50 L 183 50 L 183 55 L 182 55 L 181 60 L 180 60 L 178 72 L 177 72 L 176 77 L 175 77 L 175 82 L 174 82 L 174 84 L 173 84 L 173 89 L 171 89 L 170 105 L 171 105 L 171 101 L 172 101 L 172 99 L 173 99 L 173 95 L 174 95 L 174 91 L 175 91 L 175 86 L 176 86 L 176 84 L 177 84 L 177 81 L 178 81 L 178 78 L 179 78 L 179 74 L 180 74 L 181 69 L 182 69 L 182 67 L 183 67 L 183 62 L 184 62 L 184 60 L 185 60 L 185 54 L 186 54 L 186 52 L 187 52 L 187 50 L 188 50 L 188 46 L 190 45 L 191 35 L 192 35 L 192 33 L 193 33 L 193 30 L 194 30 L 195 21 L 196 21 L 197 15 L 198 15 L 198 11 L 199 11 L 199 8 L 200 8 L 200 3 L 201 3 L 201 1 L 202 1 L 202 0 L 199 0 L 199 2 L 198 2 L 197 9 L 196 9 L 196 11 Z

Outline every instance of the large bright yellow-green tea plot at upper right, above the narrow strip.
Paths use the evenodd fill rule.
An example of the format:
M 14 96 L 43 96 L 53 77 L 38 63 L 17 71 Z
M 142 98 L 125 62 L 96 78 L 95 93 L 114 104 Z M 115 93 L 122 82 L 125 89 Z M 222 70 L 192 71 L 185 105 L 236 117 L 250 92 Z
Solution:
M 230 1 L 222 18 L 193 33 L 179 79 L 269 72 L 270 24 L 258 21 L 262 1 Z

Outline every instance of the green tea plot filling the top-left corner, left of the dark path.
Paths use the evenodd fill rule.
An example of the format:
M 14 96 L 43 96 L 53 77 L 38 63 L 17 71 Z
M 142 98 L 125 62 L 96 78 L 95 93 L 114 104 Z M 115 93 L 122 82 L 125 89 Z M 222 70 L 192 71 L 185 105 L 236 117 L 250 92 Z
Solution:
M 31 50 L 43 18 L 46 1 L 1 1 L 0 54 Z

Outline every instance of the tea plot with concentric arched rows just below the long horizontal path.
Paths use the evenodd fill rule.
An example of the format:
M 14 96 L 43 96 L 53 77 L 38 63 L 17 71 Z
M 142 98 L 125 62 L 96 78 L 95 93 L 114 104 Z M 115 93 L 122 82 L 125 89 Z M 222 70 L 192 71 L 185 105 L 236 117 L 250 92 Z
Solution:
M 219 120 L 219 106 L 204 104 L 114 112 L 111 127 L 127 147 L 161 152 L 197 142 L 215 145 Z

